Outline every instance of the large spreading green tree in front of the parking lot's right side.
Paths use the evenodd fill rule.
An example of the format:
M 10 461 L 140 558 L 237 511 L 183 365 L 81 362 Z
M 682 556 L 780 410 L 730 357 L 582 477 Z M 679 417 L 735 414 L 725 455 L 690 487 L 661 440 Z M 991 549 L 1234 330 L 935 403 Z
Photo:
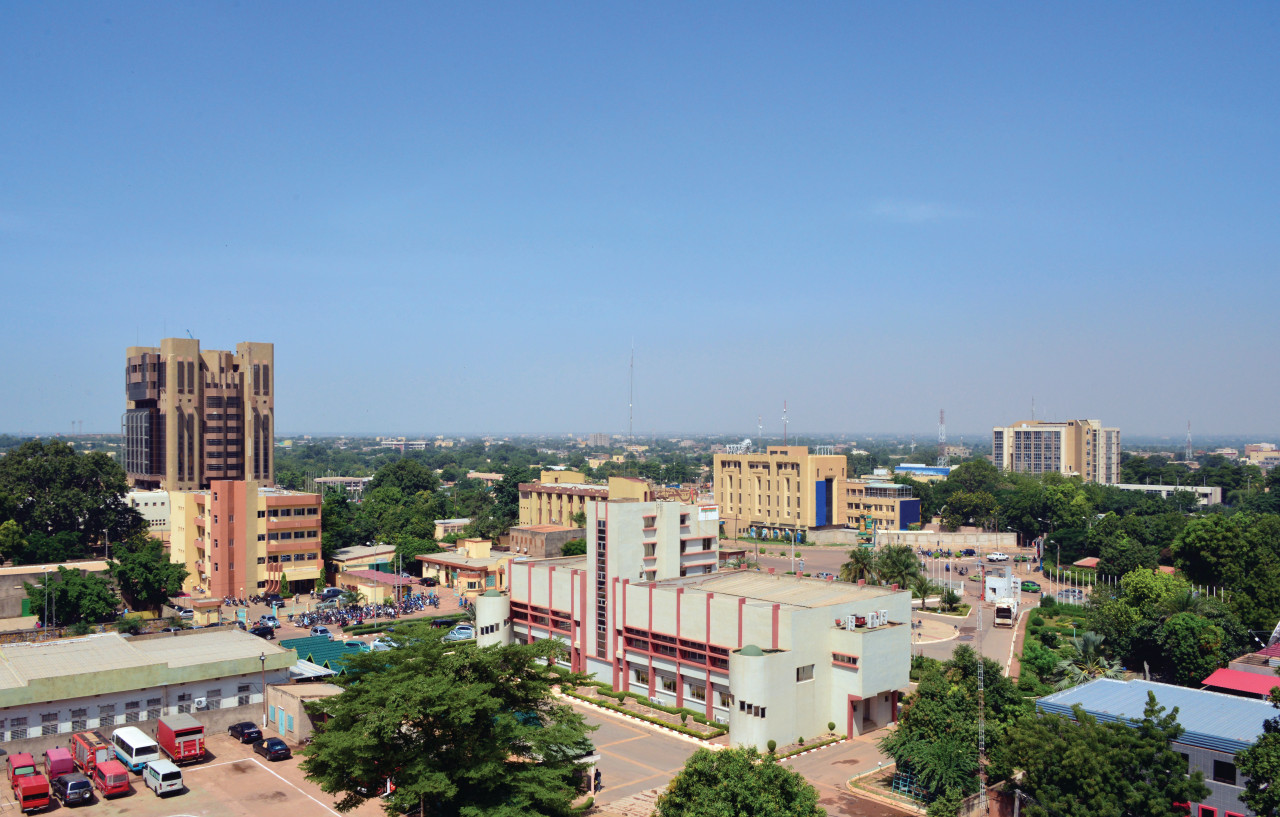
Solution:
M 552 695 L 559 677 L 547 662 L 562 648 L 444 644 L 424 624 L 396 636 L 397 649 L 348 657 L 347 688 L 314 704 L 326 720 L 302 771 L 338 811 L 393 777 L 388 813 L 429 804 L 440 817 L 571 814 L 591 727 Z

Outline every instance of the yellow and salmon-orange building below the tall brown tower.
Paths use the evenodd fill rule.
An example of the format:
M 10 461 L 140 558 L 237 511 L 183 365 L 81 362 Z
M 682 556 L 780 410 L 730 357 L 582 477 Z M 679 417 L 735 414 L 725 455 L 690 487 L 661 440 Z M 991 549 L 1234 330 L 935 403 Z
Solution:
M 212 598 L 305 593 L 323 581 L 321 497 L 253 480 L 214 480 L 172 494 L 169 556 L 187 566 L 187 590 Z

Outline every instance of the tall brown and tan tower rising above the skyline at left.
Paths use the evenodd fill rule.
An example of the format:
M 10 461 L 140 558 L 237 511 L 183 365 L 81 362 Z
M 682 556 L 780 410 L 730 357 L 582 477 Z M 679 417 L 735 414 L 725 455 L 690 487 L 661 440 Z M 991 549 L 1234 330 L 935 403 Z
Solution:
M 274 346 L 236 352 L 165 338 L 125 351 L 124 470 L 140 489 L 198 490 L 215 479 L 275 480 Z

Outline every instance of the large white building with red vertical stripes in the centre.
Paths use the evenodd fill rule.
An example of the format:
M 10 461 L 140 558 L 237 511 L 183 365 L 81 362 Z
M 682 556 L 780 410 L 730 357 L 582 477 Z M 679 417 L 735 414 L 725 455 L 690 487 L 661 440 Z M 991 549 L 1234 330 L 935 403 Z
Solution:
M 717 572 L 714 505 L 593 501 L 586 556 L 516 558 L 508 593 L 476 599 L 480 645 L 553 638 L 564 666 L 727 722 L 765 748 L 896 720 L 910 670 L 910 594 Z

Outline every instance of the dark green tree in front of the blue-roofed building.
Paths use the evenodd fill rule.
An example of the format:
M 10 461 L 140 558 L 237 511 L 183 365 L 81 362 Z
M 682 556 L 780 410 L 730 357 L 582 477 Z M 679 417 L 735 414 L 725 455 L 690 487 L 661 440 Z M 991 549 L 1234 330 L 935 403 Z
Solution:
M 1100 724 L 1080 707 L 1075 720 L 1028 716 L 1010 732 L 1028 817 L 1185 817 L 1175 803 L 1208 797 L 1202 772 L 1170 743 L 1183 734 L 1178 709 L 1165 715 L 1148 694 L 1142 720 Z

